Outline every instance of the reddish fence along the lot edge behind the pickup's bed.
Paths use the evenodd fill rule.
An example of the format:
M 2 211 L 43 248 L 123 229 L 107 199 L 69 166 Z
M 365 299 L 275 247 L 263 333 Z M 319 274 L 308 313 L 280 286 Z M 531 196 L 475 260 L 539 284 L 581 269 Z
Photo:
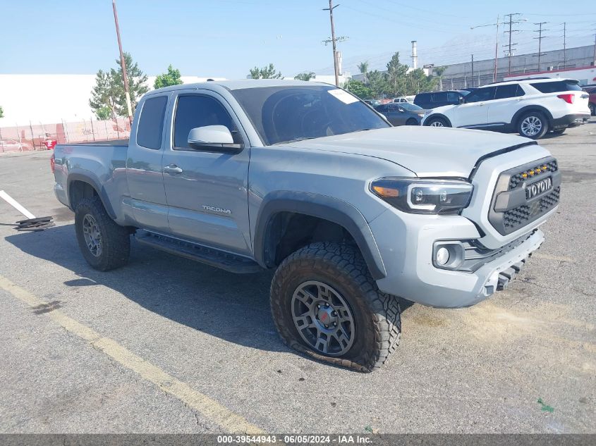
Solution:
M 76 144 L 125 140 L 128 137 L 128 118 L 0 127 L 0 152 L 47 150 L 44 144 L 46 140 L 56 140 L 58 144 Z

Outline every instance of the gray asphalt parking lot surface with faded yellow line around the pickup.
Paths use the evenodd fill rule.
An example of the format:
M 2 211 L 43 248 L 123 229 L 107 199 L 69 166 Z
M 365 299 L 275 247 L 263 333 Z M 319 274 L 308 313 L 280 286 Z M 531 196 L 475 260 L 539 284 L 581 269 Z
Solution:
M 596 119 L 540 144 L 563 173 L 542 249 L 481 304 L 409 306 L 369 374 L 281 343 L 269 273 L 138 244 L 93 270 L 50 152 L 0 156 L 0 189 L 56 220 L 17 233 L 0 202 L 0 432 L 596 433 Z

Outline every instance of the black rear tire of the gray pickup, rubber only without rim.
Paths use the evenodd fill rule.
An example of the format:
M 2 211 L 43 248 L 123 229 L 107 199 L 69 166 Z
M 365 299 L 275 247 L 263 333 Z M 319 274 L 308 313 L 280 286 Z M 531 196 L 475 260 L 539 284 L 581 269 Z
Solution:
M 87 247 L 83 234 L 83 219 L 90 214 L 101 235 L 102 252 L 95 256 Z M 99 197 L 84 198 L 75 209 L 75 231 L 83 257 L 92 268 L 109 271 L 126 265 L 130 255 L 130 235 L 127 228 L 114 223 Z

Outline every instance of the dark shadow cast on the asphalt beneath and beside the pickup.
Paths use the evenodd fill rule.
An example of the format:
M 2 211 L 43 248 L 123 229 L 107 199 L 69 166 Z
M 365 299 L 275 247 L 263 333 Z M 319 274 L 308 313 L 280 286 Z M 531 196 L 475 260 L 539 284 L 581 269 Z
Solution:
M 281 342 L 272 321 L 269 310 L 272 271 L 233 274 L 141 246 L 134 238 L 128 265 L 114 271 L 96 271 L 80 254 L 73 224 L 39 233 L 10 235 L 5 240 L 26 254 L 73 271 L 78 278 L 66 280 L 64 285 L 68 287 L 93 292 L 93 287 L 103 285 L 160 316 L 226 341 L 255 349 L 297 353 Z M 75 298 L 69 293 L 65 299 L 57 292 L 48 290 L 44 298 L 60 299 L 64 307 Z M 402 301 L 402 310 L 411 304 Z

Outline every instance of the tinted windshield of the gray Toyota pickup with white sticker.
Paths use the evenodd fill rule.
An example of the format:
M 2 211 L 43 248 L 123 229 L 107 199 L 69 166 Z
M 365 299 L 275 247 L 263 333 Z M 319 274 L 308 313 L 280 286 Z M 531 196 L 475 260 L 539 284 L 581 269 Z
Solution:
M 327 85 L 231 91 L 266 145 L 391 127 L 348 92 Z

